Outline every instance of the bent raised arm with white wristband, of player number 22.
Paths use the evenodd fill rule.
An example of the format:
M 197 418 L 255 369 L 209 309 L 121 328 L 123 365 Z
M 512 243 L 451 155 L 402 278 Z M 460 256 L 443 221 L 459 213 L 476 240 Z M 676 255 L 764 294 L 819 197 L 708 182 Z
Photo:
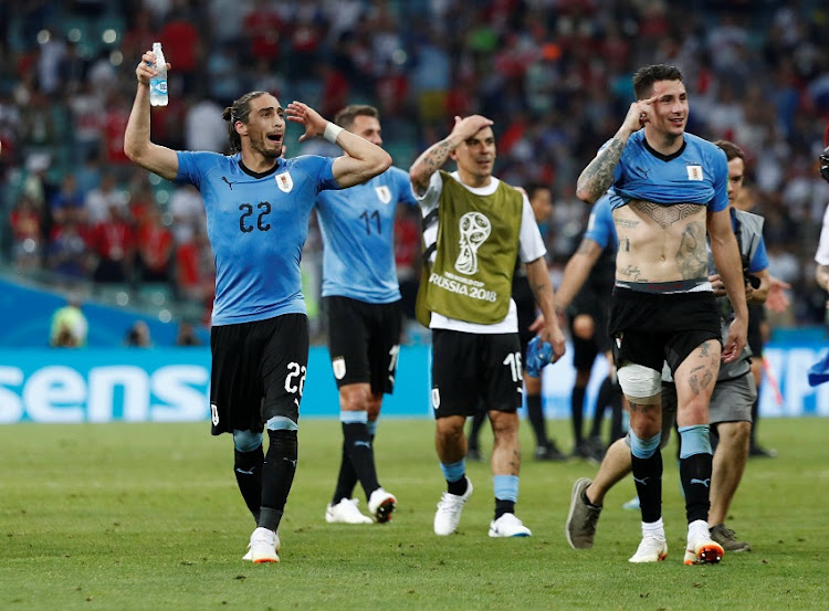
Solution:
M 307 104 L 292 102 L 285 108 L 285 118 L 305 126 L 305 134 L 300 136 L 301 143 L 306 138 L 323 136 L 343 149 L 345 155 L 337 157 L 332 167 L 334 179 L 343 188 L 360 185 L 385 172 L 391 166 L 391 156 L 388 152 L 324 119 Z

